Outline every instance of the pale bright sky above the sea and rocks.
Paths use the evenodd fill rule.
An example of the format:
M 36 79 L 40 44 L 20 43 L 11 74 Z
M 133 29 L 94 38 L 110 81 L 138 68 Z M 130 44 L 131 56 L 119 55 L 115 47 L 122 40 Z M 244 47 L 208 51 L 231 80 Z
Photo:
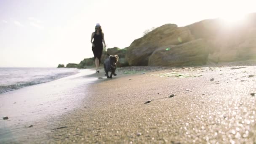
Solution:
M 125 48 L 163 24 L 179 27 L 256 12 L 253 0 L 0 0 L 0 67 L 57 67 L 93 57 L 101 24 L 107 48 Z

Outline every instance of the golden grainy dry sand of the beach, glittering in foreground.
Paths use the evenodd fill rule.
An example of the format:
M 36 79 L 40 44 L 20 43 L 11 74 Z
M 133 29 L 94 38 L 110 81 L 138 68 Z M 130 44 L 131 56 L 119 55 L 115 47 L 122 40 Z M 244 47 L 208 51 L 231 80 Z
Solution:
M 4 143 L 253 144 L 255 69 L 243 63 L 126 67 L 112 79 L 101 69 L 80 77 L 98 80 L 76 89 L 86 89 L 79 107 L 38 120 Z

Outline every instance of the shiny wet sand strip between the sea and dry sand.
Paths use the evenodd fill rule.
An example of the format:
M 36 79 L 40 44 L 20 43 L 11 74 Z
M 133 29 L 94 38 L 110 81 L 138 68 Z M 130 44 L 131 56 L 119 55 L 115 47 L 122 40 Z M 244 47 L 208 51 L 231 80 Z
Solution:
M 92 73 L 94 71 L 81 69 L 76 75 L 0 94 L 0 143 L 22 139 L 26 136 L 24 131 L 35 123 L 55 121 L 80 107 L 88 91 L 86 85 L 98 80 L 83 78 Z M 8 120 L 3 120 L 6 116 Z

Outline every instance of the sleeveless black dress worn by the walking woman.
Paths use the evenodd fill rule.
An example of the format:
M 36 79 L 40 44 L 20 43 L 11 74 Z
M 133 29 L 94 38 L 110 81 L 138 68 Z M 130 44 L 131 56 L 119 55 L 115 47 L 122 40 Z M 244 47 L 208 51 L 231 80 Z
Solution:
M 101 54 L 102 54 L 102 50 L 103 50 L 102 35 L 100 35 L 100 34 L 97 35 L 96 33 L 94 33 L 93 44 L 95 46 L 95 47 L 92 47 L 94 59 L 98 58 L 99 63 L 101 63 Z

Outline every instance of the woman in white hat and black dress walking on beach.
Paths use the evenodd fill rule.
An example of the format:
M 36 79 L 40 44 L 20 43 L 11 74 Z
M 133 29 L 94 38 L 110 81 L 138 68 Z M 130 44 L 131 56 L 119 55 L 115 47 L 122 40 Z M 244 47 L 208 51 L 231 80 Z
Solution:
M 99 73 L 99 64 L 101 63 L 101 54 L 103 50 L 103 44 L 106 47 L 104 40 L 104 33 L 101 30 L 100 24 L 96 24 L 95 32 L 91 34 L 92 51 L 95 59 L 96 73 Z

